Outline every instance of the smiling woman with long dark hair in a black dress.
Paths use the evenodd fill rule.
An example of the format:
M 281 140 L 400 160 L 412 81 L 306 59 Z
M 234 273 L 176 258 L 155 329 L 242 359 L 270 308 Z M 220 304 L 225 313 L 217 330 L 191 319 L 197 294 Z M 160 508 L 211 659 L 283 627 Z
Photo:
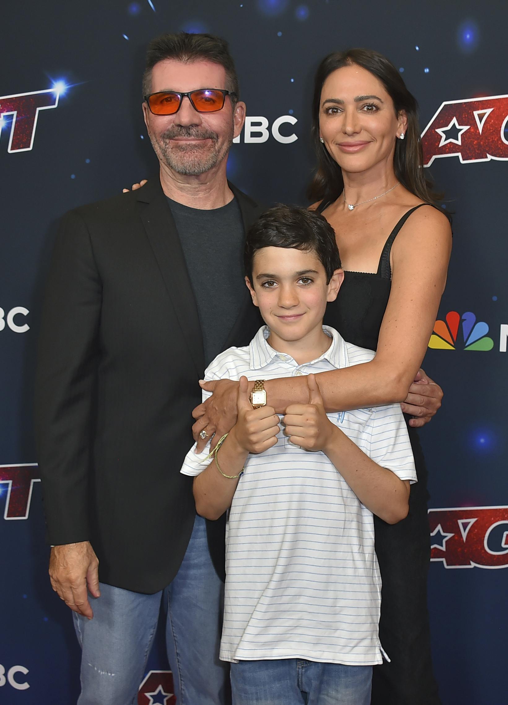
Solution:
M 325 322 L 347 341 L 377 350 L 372 362 L 318 375 L 330 411 L 407 398 L 403 410 L 428 420 L 440 405 L 440 389 L 418 371 L 445 287 L 452 235 L 426 183 L 416 110 L 397 69 L 375 51 L 330 54 L 316 73 L 318 171 L 310 192 L 318 199 L 314 208 L 335 228 L 346 270 Z M 213 396 L 194 412 L 194 436 L 204 430 L 220 437 L 235 422 L 237 383 L 204 387 Z M 303 377 L 267 381 L 265 388 L 280 413 L 308 400 Z M 380 639 L 391 663 L 375 668 L 373 705 L 440 702 L 430 662 L 428 495 L 416 425 L 420 419 L 409 421 L 419 479 L 409 515 L 395 526 L 376 520 Z

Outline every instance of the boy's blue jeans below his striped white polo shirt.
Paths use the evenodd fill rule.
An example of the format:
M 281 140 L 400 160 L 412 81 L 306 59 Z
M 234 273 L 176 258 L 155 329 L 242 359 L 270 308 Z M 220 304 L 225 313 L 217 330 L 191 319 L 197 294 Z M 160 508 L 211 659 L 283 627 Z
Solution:
M 233 705 L 369 705 L 372 666 L 300 658 L 231 664 Z

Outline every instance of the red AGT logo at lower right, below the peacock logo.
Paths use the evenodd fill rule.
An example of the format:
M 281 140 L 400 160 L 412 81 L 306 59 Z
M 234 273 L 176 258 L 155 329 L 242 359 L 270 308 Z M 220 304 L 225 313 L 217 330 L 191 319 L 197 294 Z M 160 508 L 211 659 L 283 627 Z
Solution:
M 445 568 L 507 568 L 508 506 L 429 509 L 430 560 Z

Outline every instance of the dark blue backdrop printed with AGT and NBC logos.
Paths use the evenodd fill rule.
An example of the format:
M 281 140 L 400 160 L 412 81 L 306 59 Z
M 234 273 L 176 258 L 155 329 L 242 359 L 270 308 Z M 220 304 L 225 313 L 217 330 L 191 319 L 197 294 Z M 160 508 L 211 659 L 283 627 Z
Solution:
M 445 705 L 504 705 L 507 6 L 27 0 L 2 8 L 2 19 L 0 701 L 68 704 L 78 692 L 70 613 L 47 577 L 32 438 L 40 292 L 56 219 L 154 172 L 141 112 L 144 47 L 187 30 L 230 42 L 248 119 L 229 175 L 261 200 L 305 202 L 312 75 L 328 51 L 378 49 L 419 99 L 426 163 L 455 212 L 447 290 L 424 364 L 445 389 L 421 434 L 435 670 Z M 167 670 L 158 646 L 140 705 L 171 703 Z

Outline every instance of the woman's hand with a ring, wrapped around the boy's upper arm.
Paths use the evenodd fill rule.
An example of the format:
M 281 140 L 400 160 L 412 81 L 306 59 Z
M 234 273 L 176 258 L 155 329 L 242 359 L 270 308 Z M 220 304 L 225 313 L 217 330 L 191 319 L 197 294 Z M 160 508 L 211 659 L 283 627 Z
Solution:
M 211 397 L 199 404 L 192 416 L 197 419 L 192 427 L 194 441 L 197 441 L 196 452 L 201 453 L 206 440 L 215 434 L 211 440 L 210 450 L 215 448 L 218 439 L 229 433 L 237 421 L 237 396 L 238 382 L 231 379 L 218 379 L 216 381 L 199 381 L 201 388 L 211 392 Z M 199 436 L 201 431 L 206 431 L 204 439 Z

